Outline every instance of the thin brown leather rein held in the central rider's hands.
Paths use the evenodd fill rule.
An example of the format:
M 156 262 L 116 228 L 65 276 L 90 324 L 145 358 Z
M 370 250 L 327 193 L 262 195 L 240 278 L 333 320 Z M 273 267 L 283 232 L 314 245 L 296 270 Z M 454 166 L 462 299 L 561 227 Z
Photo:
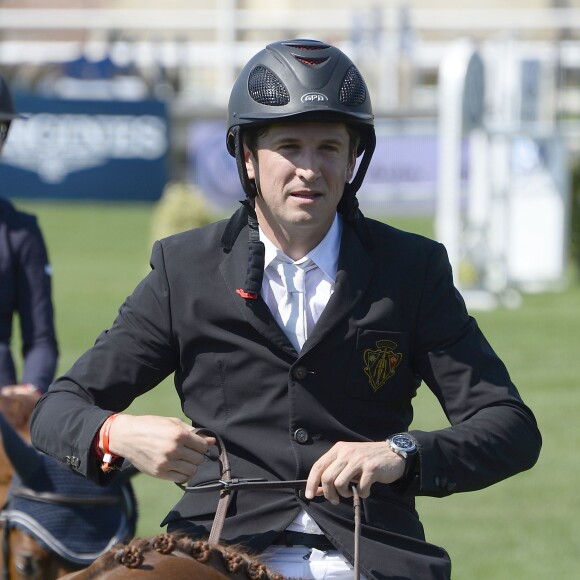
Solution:
M 231 500 L 231 492 L 236 490 L 252 490 L 252 489 L 297 489 L 302 490 L 306 488 L 306 479 L 295 479 L 286 481 L 271 481 L 261 478 L 243 479 L 239 477 L 232 477 L 230 468 L 230 461 L 226 452 L 223 439 L 211 429 L 197 428 L 193 429 L 193 433 L 205 433 L 216 440 L 216 447 L 219 451 L 219 462 L 221 465 L 221 477 L 217 481 L 204 483 L 200 485 L 183 485 L 176 483 L 183 491 L 219 491 L 220 498 L 211 526 L 208 543 L 219 544 L 222 529 L 226 519 L 226 512 Z M 353 494 L 353 509 L 354 509 L 354 580 L 360 579 L 360 537 L 361 537 L 361 500 L 356 484 L 351 484 L 351 491 Z

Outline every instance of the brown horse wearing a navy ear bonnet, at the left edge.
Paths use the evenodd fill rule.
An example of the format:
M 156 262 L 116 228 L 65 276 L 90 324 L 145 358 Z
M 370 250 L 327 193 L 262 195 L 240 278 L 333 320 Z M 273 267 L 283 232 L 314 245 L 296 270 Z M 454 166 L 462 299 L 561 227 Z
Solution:
M 131 473 L 101 487 L 62 468 L 32 447 L 32 406 L 15 400 L 0 393 L 0 570 L 3 580 L 54 580 L 133 537 Z

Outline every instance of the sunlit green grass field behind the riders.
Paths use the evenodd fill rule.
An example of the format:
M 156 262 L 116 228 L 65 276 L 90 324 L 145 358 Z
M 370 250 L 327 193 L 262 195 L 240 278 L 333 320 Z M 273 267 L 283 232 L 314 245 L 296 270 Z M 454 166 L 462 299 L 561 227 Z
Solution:
M 22 203 L 37 214 L 54 268 L 59 369 L 66 370 L 107 328 L 148 269 L 152 206 Z M 430 235 L 427 220 L 391 219 Z M 444 546 L 455 580 L 558 580 L 579 577 L 580 285 L 524 296 L 516 310 L 474 313 L 537 415 L 544 448 L 536 467 L 490 489 L 445 499 L 420 498 L 428 540 Z M 420 390 L 414 426 L 444 426 L 428 389 Z M 171 381 L 131 407 L 180 414 Z M 180 496 L 171 483 L 138 476 L 139 535 Z

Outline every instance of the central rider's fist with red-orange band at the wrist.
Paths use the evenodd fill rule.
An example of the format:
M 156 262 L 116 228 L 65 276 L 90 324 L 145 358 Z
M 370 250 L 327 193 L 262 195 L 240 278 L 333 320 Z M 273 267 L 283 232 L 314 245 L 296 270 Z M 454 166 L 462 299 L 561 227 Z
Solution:
M 111 453 L 124 457 L 139 471 L 186 483 L 205 459 L 214 437 L 196 435 L 175 417 L 118 415 L 109 431 Z M 102 449 L 102 432 L 100 439 Z

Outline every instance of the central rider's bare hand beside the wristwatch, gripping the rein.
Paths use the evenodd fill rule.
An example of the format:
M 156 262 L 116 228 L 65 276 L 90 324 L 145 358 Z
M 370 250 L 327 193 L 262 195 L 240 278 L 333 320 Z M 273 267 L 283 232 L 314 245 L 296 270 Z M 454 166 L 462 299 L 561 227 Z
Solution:
M 339 496 L 351 497 L 350 482 L 356 482 L 361 497 L 368 497 L 371 485 L 393 483 L 403 476 L 405 460 L 386 441 L 353 443 L 339 441 L 313 466 L 306 483 L 306 497 L 324 495 L 333 504 Z

